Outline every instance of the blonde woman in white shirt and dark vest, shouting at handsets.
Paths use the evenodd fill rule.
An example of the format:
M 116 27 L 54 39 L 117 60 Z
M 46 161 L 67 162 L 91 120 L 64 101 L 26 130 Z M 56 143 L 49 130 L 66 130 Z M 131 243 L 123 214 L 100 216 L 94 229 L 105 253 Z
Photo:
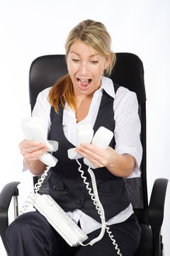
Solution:
M 101 220 L 81 179 L 76 160 L 67 150 L 77 153 L 97 167 L 94 170 L 98 194 L 106 221 L 123 256 L 135 255 L 140 227 L 125 191 L 123 178 L 140 176 L 142 147 L 137 98 L 134 92 L 113 85 L 110 75 L 115 64 L 111 37 L 102 23 L 86 20 L 69 33 L 66 42 L 68 75 L 38 95 L 33 116 L 47 124 L 47 137 L 59 142 L 54 153 L 57 165 L 50 169 L 50 195 L 89 236 L 98 236 Z M 77 125 L 91 124 L 94 132 L 104 126 L 114 132 L 106 150 L 91 144 L 77 145 Z M 19 145 L 28 169 L 35 175 L 45 170 L 39 158 L 47 147 L 24 140 Z M 87 176 L 87 166 L 79 159 Z M 38 212 L 19 216 L 8 227 L 6 240 L 10 255 L 117 255 L 108 234 L 93 246 L 69 247 Z M 87 243 L 87 242 L 84 242 Z

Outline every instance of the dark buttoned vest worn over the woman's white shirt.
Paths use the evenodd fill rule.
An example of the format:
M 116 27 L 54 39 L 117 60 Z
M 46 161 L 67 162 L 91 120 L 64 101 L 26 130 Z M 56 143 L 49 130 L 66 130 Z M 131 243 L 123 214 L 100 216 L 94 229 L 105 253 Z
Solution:
M 116 91 L 118 85 L 114 86 Z M 101 126 L 114 132 L 113 100 L 113 97 L 103 90 L 101 105 L 94 124 L 94 132 Z M 74 159 L 71 160 L 67 156 L 67 150 L 74 147 L 74 145 L 64 136 L 62 114 L 63 107 L 61 105 L 58 114 L 55 112 L 54 107 L 51 108 L 49 139 L 59 142 L 59 149 L 53 153 L 58 159 L 58 162 L 55 167 L 50 169 L 51 176 L 48 181 L 50 184 L 50 196 L 59 203 L 64 211 L 80 209 L 95 220 L 101 222 L 94 203 L 91 201 L 91 197 L 81 178 L 81 174 L 78 171 L 79 165 L 77 161 Z M 113 149 L 115 148 L 114 137 L 110 146 Z M 91 178 L 87 172 L 88 166 L 84 164 L 83 159 L 79 159 L 79 161 L 82 165 L 81 169 L 84 170 L 84 175 L 91 187 Z M 106 220 L 108 220 L 120 213 L 120 211 L 125 210 L 130 204 L 128 194 L 125 191 L 125 182 L 123 178 L 111 174 L 106 167 L 94 169 L 94 174 L 96 176 L 98 196 L 105 210 Z

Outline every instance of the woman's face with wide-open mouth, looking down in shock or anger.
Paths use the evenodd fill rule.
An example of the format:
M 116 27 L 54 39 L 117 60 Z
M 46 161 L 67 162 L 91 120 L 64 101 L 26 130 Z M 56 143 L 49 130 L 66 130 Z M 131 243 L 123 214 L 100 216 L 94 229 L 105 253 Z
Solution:
M 101 86 L 101 76 L 108 63 L 109 58 L 106 60 L 86 43 L 75 41 L 67 55 L 67 68 L 75 96 L 95 92 Z

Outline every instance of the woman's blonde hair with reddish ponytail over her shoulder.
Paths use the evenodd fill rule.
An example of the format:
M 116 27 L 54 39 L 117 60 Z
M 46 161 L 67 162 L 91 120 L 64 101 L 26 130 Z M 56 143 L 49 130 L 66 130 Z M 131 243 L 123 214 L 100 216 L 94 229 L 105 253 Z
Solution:
M 86 20 L 81 21 L 75 26 L 72 31 L 69 32 L 69 36 L 65 43 L 66 57 L 72 44 L 77 40 L 91 46 L 106 59 L 110 58 L 108 68 L 104 70 L 104 73 L 107 76 L 111 75 L 111 71 L 115 65 L 115 53 L 111 51 L 111 36 L 103 23 Z M 69 107 L 77 110 L 72 80 L 69 74 L 60 78 L 60 80 L 57 80 L 50 90 L 49 99 L 50 104 L 55 107 L 56 112 L 58 112 L 59 103 L 64 107 L 65 102 L 67 102 Z

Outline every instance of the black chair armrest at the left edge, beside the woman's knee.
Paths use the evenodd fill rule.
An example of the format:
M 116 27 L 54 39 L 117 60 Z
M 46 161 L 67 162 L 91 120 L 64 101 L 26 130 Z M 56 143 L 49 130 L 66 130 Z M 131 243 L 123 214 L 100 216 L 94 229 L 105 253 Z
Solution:
M 8 228 L 8 207 L 12 196 L 18 196 L 17 186 L 19 183 L 19 181 L 14 181 L 6 184 L 0 193 L 0 235 L 6 252 L 8 252 L 5 240 L 6 228 Z

